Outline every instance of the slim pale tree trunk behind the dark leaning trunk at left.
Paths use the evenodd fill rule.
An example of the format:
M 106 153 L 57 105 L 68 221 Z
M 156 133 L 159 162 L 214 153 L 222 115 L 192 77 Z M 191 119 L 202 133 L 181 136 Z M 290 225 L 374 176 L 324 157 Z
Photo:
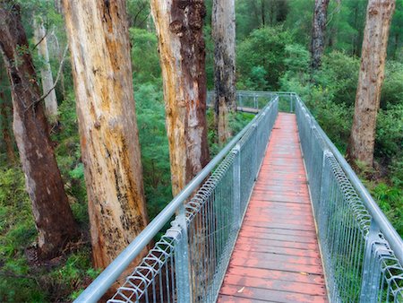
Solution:
M 49 52 L 47 49 L 47 31 L 43 26 L 41 18 L 37 20 L 34 17 L 34 36 L 38 44 L 38 54 L 42 58 L 42 66 L 40 68 L 40 79 L 42 82 L 43 93 L 50 91 L 45 98 L 45 113 L 51 124 L 57 123 L 57 99 L 56 91 L 52 90 L 54 86 L 52 68 L 49 63 Z

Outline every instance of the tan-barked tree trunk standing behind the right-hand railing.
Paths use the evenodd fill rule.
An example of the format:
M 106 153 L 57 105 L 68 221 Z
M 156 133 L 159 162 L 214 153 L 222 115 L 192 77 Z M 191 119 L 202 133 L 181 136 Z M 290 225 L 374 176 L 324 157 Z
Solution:
M 390 21 L 395 0 L 369 0 L 361 68 L 347 158 L 373 165 L 376 116 L 380 106 Z

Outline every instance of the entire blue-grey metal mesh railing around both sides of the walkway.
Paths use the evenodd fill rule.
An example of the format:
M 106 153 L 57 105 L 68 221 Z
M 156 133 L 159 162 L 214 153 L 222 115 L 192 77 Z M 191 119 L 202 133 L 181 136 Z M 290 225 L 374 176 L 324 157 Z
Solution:
M 254 96 L 266 98 L 266 104 L 272 100 L 77 301 L 97 301 L 174 214 L 171 228 L 109 302 L 217 299 L 270 131 L 282 110 L 296 112 L 330 301 L 403 302 L 403 241 L 304 102 L 288 92 L 238 91 L 237 98 L 240 94 L 256 108 L 260 103 Z

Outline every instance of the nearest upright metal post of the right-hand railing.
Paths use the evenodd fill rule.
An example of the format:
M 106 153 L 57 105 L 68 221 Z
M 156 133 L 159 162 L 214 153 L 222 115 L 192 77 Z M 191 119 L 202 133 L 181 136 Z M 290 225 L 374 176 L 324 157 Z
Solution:
M 371 220 L 370 230 L 365 238 L 365 255 L 364 255 L 364 266 L 363 275 L 361 281 L 361 295 L 360 302 L 377 302 L 378 301 L 378 283 L 380 278 L 380 269 L 376 268 L 375 264 L 378 260 L 373 256 L 375 252 L 373 250 L 376 242 L 380 240 L 379 238 L 380 229 L 376 221 Z M 379 261 L 378 261 L 379 262 Z

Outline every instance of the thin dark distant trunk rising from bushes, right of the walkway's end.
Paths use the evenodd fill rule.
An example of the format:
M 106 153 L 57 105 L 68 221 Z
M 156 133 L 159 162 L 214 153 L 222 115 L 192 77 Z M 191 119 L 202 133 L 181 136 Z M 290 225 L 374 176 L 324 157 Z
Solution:
M 326 15 L 330 0 L 315 0 L 313 13 L 313 29 L 311 40 L 311 66 L 313 71 L 321 67 L 321 59 L 324 49 L 324 35 L 326 31 Z

